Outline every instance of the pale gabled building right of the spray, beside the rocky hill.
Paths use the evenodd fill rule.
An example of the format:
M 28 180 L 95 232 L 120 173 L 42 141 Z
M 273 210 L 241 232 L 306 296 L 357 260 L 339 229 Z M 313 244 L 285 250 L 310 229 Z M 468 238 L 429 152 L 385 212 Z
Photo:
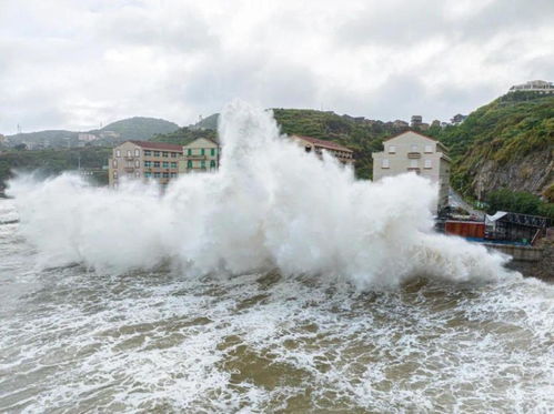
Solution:
M 439 184 L 436 211 L 449 204 L 449 150 L 433 138 L 406 131 L 383 142 L 384 151 L 374 152 L 373 181 L 406 172 L 429 178 Z

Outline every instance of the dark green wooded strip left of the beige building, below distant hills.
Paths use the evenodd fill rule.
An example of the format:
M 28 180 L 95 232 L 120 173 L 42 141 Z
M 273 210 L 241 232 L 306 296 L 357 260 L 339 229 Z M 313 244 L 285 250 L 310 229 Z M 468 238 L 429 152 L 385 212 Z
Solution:
M 0 189 L 13 176 L 16 171 L 37 171 L 39 174 L 48 176 L 63 171 L 77 170 L 79 163 L 83 169 L 101 169 L 108 164 L 111 151 L 110 148 L 88 147 L 64 150 L 12 150 L 3 152 L 0 154 Z M 95 176 L 101 182 L 107 181 L 107 173 Z

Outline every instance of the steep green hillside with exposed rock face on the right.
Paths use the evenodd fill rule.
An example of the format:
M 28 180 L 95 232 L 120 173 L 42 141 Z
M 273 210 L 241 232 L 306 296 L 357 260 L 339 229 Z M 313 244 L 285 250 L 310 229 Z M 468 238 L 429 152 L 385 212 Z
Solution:
M 515 92 L 437 131 L 451 149 L 452 184 L 471 198 L 507 189 L 554 192 L 554 97 Z

